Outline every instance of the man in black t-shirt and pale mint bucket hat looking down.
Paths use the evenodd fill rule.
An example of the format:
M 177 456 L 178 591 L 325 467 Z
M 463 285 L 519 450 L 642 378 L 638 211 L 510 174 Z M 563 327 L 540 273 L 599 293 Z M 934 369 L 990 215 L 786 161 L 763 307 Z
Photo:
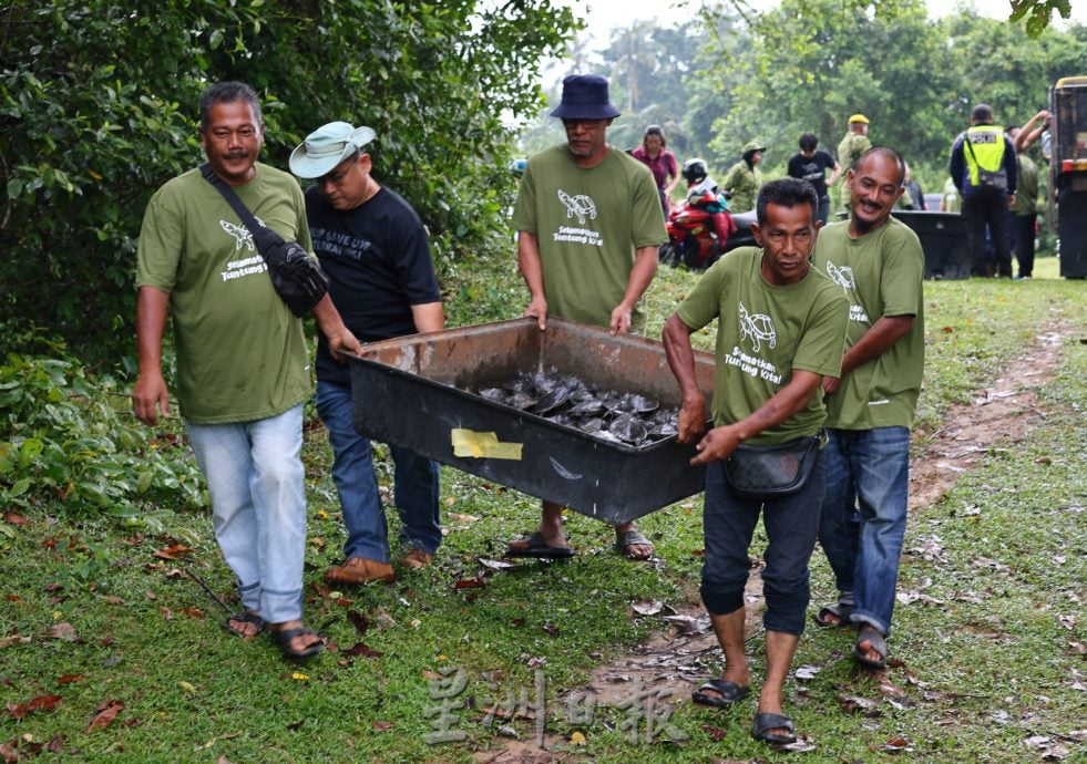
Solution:
M 343 321 L 363 342 L 440 331 L 444 327 L 438 277 L 427 230 L 416 210 L 371 175 L 363 148 L 369 127 L 330 122 L 306 136 L 290 155 L 290 172 L 314 179 L 306 213 L 314 250 L 329 277 L 329 293 Z M 332 446 L 332 479 L 347 543 L 343 565 L 329 568 L 331 584 L 391 582 L 396 578 L 370 442 L 355 431 L 351 376 L 328 344 L 317 345 L 317 413 Z M 402 522 L 400 564 L 421 568 L 441 544 L 438 464 L 391 445 L 393 500 Z

